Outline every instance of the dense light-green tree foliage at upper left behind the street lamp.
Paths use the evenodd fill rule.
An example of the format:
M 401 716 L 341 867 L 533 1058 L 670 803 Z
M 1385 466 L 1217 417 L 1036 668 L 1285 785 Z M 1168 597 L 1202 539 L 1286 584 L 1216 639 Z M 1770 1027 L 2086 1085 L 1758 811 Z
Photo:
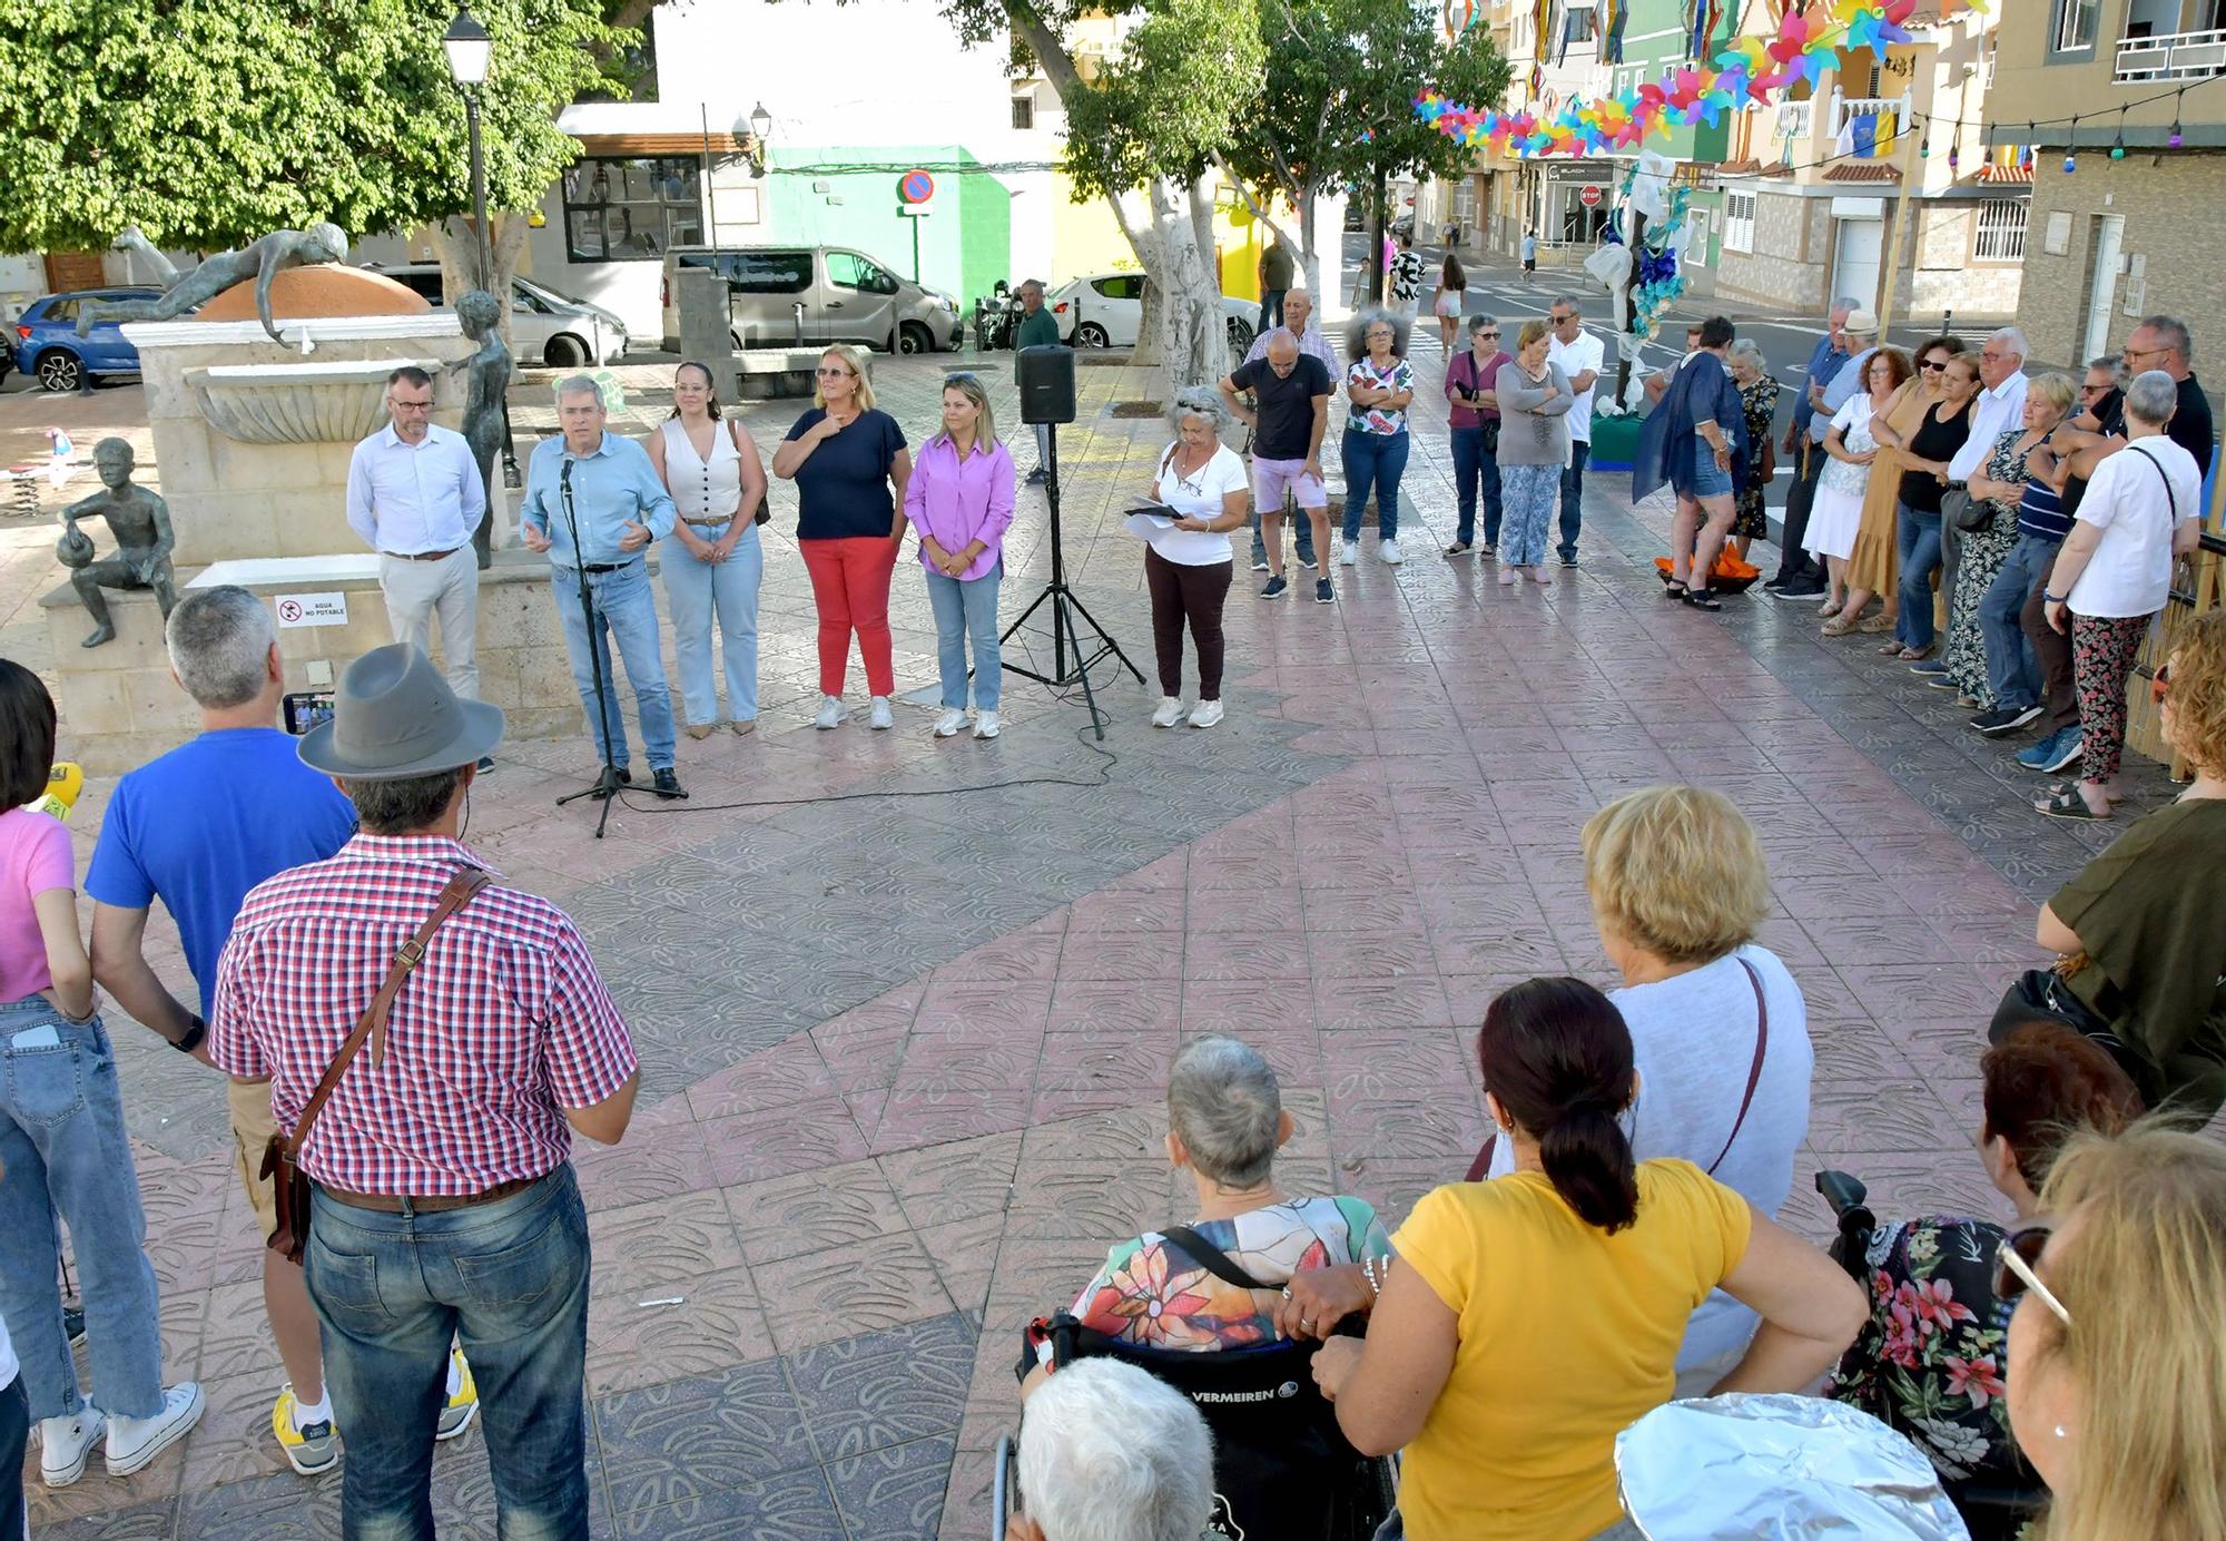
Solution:
M 556 114 L 612 89 L 599 60 L 630 33 L 603 0 L 472 11 L 494 38 L 481 138 L 501 294 L 523 212 L 579 154 Z M 450 289 L 476 281 L 447 16 L 421 0 L 0 0 L 0 252 L 98 252 L 127 227 L 207 252 L 316 220 L 349 236 L 432 225 Z

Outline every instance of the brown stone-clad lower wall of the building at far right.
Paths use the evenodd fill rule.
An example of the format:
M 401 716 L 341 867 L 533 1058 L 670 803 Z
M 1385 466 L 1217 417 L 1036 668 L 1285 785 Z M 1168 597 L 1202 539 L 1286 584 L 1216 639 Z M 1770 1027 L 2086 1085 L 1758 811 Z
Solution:
M 2141 292 L 2128 294 L 2130 274 L 2112 281 L 2110 343 L 2126 336 L 2146 314 L 2179 316 L 2195 332 L 2195 367 L 2215 367 L 2204 347 L 2217 345 L 2215 318 L 2226 310 L 2226 265 L 2206 209 L 2226 192 L 2226 154 L 2197 149 L 2133 151 L 2108 160 L 2081 149 L 2079 171 L 2066 176 L 2059 163 L 2043 163 L 2032 185 L 2032 220 L 2026 227 L 2026 276 L 2017 303 L 2017 325 L 2046 363 L 2084 363 L 2088 323 L 2088 267 L 2095 256 L 2095 216 L 2126 218 L 2126 258 L 2144 258 Z M 2070 238 L 2061 254 L 2048 252 L 2048 216 L 2070 214 Z M 2128 305 L 2133 314 L 2128 312 Z

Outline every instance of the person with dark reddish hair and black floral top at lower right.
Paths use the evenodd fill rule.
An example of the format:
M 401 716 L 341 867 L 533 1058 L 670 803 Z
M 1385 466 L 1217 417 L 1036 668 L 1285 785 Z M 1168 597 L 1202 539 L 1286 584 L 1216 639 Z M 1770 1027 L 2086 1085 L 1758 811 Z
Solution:
M 2055 1020 L 2026 1022 L 1979 1060 L 1986 1080 L 1979 1158 L 2017 1218 L 2039 1211 L 2064 1140 L 2115 1133 L 2141 1093 L 2108 1049 Z M 1948 1492 L 1963 1483 L 2032 1485 L 2003 1403 L 2010 1307 L 1994 1298 L 1992 1220 L 1925 1216 L 1872 1231 L 1870 1325 L 1832 1372 L 1832 1396 L 1908 1434 Z

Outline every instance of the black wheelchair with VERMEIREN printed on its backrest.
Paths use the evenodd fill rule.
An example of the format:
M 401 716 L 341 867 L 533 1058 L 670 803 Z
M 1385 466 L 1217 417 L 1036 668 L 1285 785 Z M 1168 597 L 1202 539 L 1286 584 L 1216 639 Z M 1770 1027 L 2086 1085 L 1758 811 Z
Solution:
M 1311 1341 L 1191 1354 L 1122 1343 L 1071 1314 L 1028 1329 L 1051 1343 L 1053 1370 L 1111 1356 L 1175 1387 L 1213 1432 L 1213 1523 L 1229 1541 L 1369 1541 L 1398 1499 L 1389 1456 L 1362 1456 L 1338 1430 L 1338 1414 L 1313 1385 Z M 993 1541 L 1013 1514 L 1017 1445 L 997 1441 Z

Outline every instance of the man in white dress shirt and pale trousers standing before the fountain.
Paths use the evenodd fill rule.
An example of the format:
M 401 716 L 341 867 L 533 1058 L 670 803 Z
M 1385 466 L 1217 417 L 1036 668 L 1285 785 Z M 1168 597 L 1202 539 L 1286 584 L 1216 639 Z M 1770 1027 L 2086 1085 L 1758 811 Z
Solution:
M 356 445 L 347 463 L 347 523 L 378 552 L 378 588 L 394 641 L 441 655 L 450 688 L 479 699 L 479 557 L 472 530 L 487 490 L 463 434 L 432 421 L 432 376 L 403 365 L 387 376 L 392 421 Z M 479 766 L 490 770 L 492 762 Z

